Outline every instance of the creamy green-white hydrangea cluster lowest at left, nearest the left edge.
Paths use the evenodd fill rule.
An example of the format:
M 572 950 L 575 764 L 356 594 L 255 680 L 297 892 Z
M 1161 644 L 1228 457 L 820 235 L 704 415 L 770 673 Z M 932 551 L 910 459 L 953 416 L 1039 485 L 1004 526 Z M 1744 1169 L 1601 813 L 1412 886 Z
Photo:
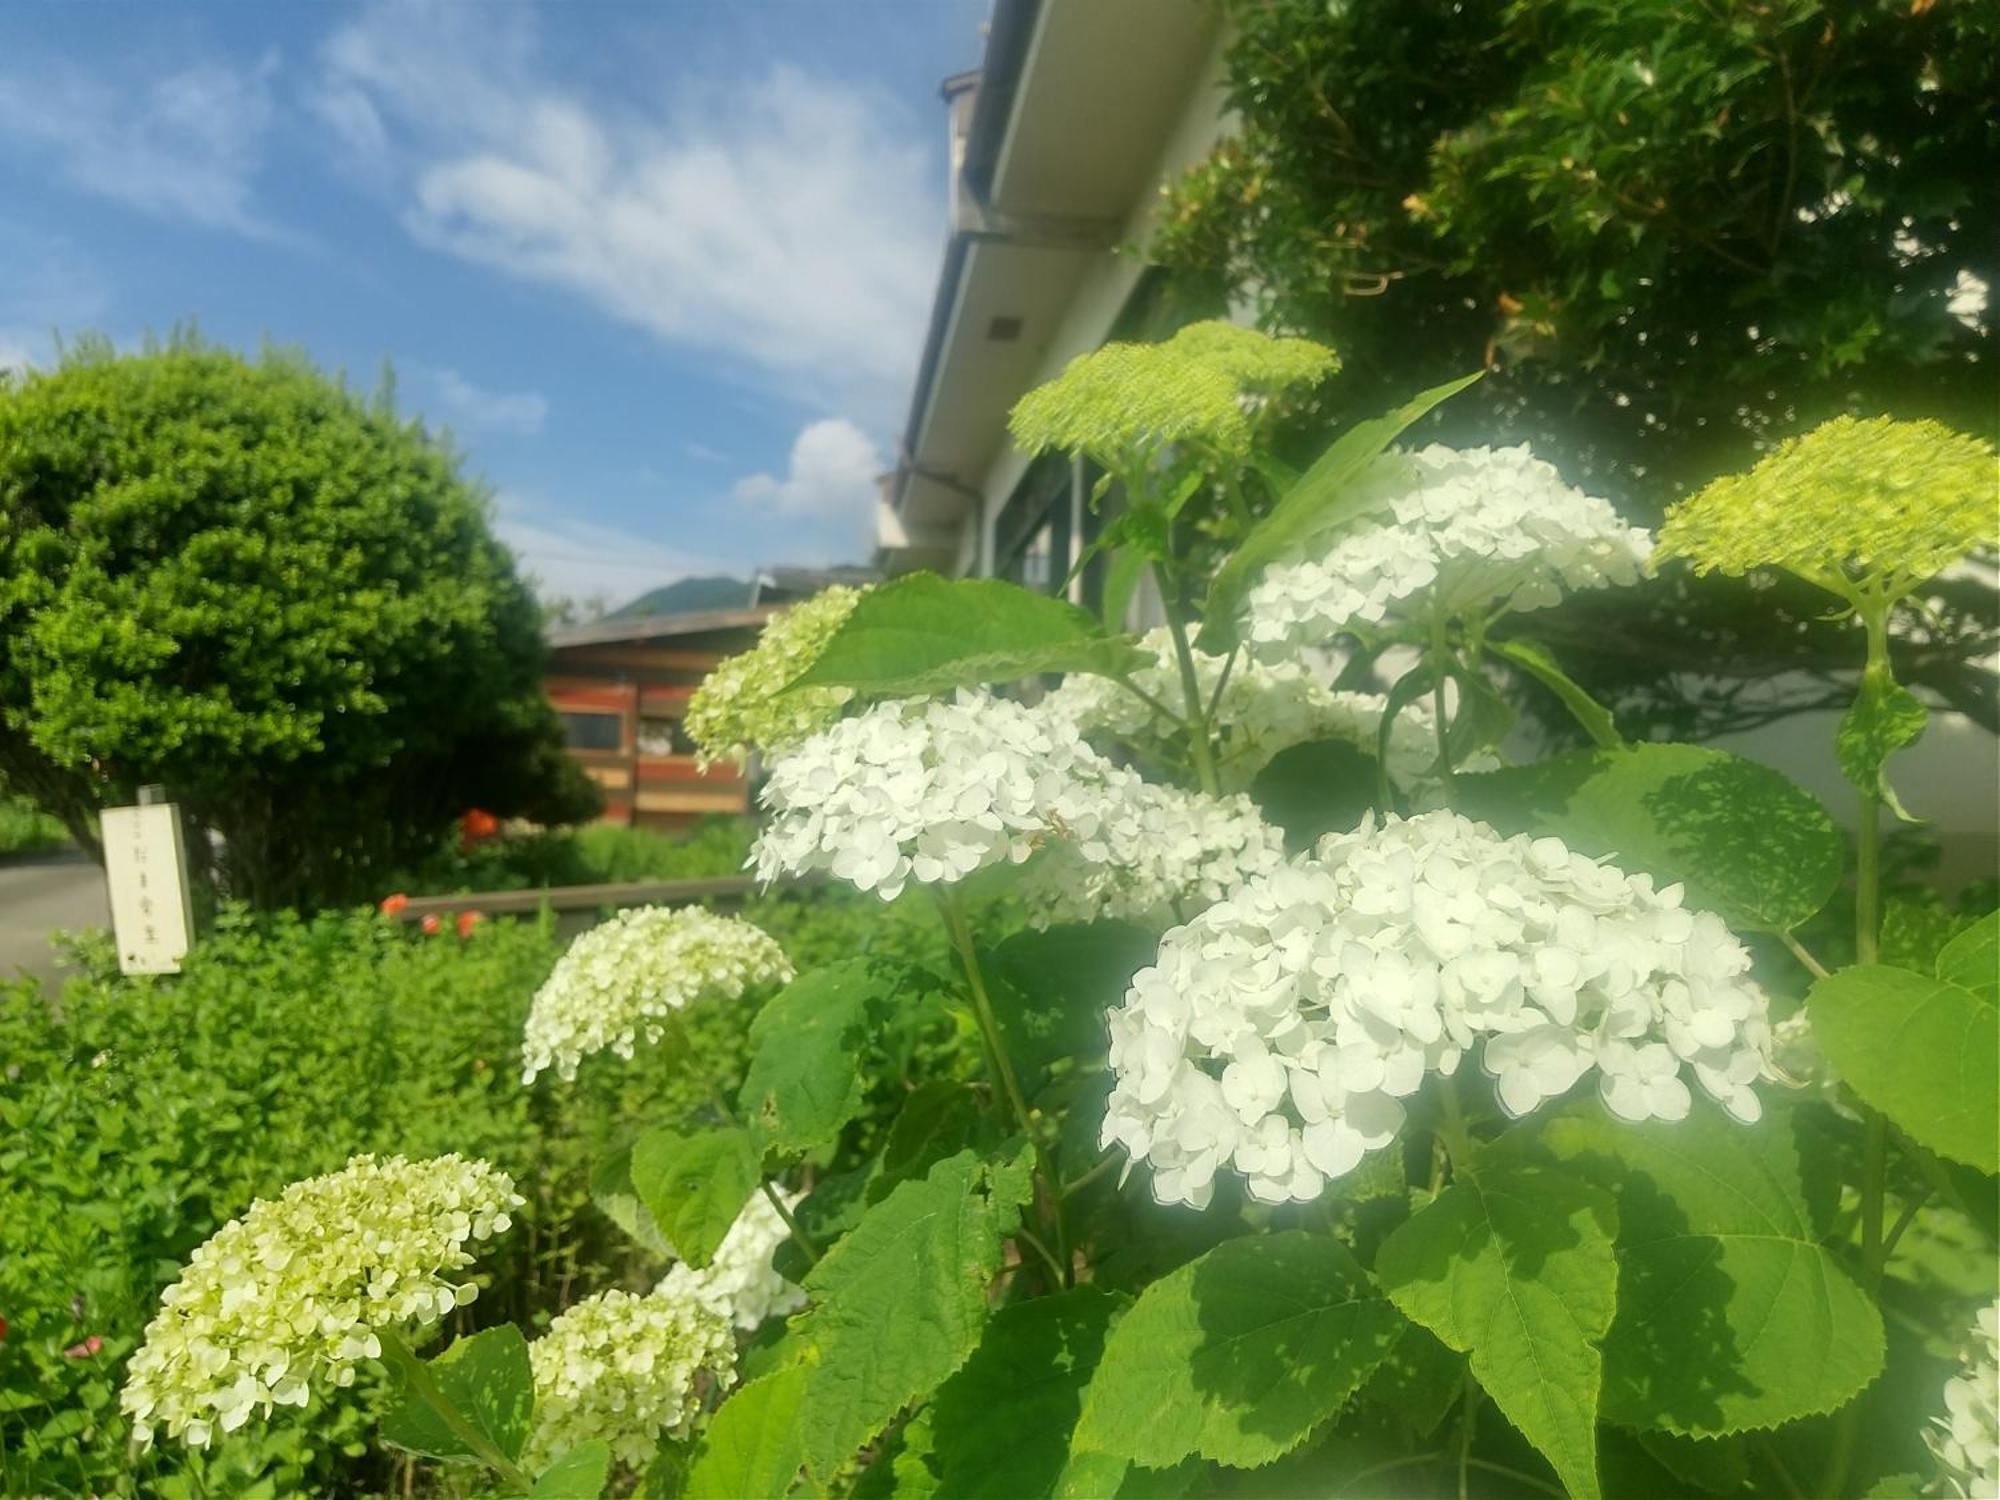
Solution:
M 448 1274 L 508 1228 L 514 1180 L 486 1162 L 356 1156 L 258 1198 L 188 1260 L 132 1356 L 120 1406 L 138 1442 L 194 1448 L 316 1388 L 348 1386 L 384 1328 L 432 1322 L 478 1288 Z

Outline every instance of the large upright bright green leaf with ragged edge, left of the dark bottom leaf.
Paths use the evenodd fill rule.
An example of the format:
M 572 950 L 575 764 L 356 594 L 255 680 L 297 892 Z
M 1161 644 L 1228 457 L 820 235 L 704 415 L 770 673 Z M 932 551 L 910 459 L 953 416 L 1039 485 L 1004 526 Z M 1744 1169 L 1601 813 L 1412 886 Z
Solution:
M 978 1346 L 986 1286 L 1032 1174 L 1026 1146 L 996 1162 L 950 1156 L 874 1204 L 806 1274 L 812 1374 L 798 1432 L 820 1480 Z

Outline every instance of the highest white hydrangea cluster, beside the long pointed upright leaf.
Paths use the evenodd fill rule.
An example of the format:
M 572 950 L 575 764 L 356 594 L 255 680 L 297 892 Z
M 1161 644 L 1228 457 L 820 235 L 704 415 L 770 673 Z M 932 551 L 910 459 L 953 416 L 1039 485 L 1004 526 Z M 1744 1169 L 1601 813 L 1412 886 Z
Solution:
M 1638 582 L 1652 538 L 1518 448 L 1390 452 L 1358 482 L 1376 516 L 1252 584 L 1256 650 L 1318 644 L 1390 612 L 1538 610 L 1564 590 Z

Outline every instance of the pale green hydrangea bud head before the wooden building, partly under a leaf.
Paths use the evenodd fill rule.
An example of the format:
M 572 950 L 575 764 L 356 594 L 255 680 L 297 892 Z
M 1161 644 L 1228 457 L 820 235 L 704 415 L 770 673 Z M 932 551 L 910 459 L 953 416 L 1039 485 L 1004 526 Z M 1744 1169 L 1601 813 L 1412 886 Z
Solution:
M 834 586 L 794 604 L 764 624 L 756 646 L 702 680 L 688 700 L 684 728 L 704 768 L 718 760 L 742 766 L 752 750 L 788 750 L 840 718 L 852 688 L 784 688 L 820 660 L 864 592 Z

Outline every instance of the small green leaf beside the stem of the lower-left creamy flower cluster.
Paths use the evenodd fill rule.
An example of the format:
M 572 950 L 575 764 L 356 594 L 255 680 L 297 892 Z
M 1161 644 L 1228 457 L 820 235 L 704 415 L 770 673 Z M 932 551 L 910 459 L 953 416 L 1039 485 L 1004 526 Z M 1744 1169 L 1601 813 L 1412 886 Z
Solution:
M 402 1380 L 402 1398 L 382 1416 L 386 1442 L 424 1458 L 484 1462 L 486 1454 L 434 1404 L 444 1402 L 504 1458 L 520 1458 L 534 1416 L 534 1366 L 520 1328 L 486 1328 L 420 1366 L 404 1364 L 400 1350 L 384 1340 L 382 1352 Z

